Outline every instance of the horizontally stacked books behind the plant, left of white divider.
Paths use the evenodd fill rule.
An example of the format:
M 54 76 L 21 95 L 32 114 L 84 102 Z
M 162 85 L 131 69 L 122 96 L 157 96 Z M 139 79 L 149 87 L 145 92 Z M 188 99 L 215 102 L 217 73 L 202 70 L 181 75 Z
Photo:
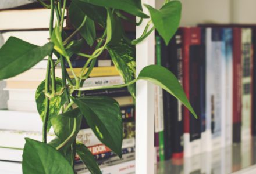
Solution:
M 17 7 L 17 4 L 12 5 L 10 1 L 0 2 L 0 9 L 4 9 L 0 10 L 0 20 L 2 23 L 0 26 L 0 48 L 10 36 L 40 46 L 49 42 L 49 10 L 38 8 L 38 3 L 33 2 L 36 1 L 13 1 L 13 4 L 25 5 L 21 8 Z M 65 20 L 64 28 L 67 35 L 74 31 L 67 24 L 67 20 Z M 97 31 L 98 34 L 101 34 L 101 32 Z M 74 38 L 81 39 L 79 34 L 74 36 Z M 90 53 L 91 50 L 90 46 L 84 45 L 81 52 Z M 86 59 L 80 58 L 80 56 L 72 56 L 70 59 L 77 74 L 80 73 L 84 63 L 86 63 Z M 57 57 L 53 57 L 53 59 L 56 60 Z M 0 161 L 9 161 L 13 162 L 13 164 L 20 163 L 25 143 L 24 138 L 30 137 L 39 141 L 42 139 L 42 121 L 37 113 L 35 92 L 37 86 L 45 79 L 46 67 L 47 59 L 45 58 L 30 70 L 5 81 L 0 81 L 0 139 L 5 140 L 0 142 Z M 67 64 L 66 67 L 67 73 L 72 78 L 72 73 L 70 73 Z M 59 65 L 55 68 L 55 75 L 61 78 L 61 68 Z M 120 77 L 115 66 L 113 66 L 107 52 L 104 52 L 99 56 L 90 74 L 90 78 L 84 82 L 83 87 L 118 84 L 123 84 L 123 79 Z M 76 92 L 73 95 L 76 95 Z M 134 172 L 135 107 L 133 97 L 131 97 L 127 88 L 93 90 L 83 92 L 81 95 L 104 95 L 117 100 L 123 119 L 123 157 L 119 159 L 115 153 L 102 144 L 89 128 L 85 119 L 82 121 L 76 140 L 88 147 L 97 160 L 102 173 Z M 48 142 L 54 138 L 54 130 L 50 129 L 47 138 Z M 78 157 L 76 158 L 75 171 L 77 173 L 90 173 Z

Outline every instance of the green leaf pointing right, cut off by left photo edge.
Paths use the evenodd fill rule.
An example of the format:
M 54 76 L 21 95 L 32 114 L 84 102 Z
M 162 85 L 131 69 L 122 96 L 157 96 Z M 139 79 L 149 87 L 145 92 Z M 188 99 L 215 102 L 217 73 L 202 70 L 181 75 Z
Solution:
M 21 39 L 10 37 L 0 48 L 0 80 L 29 70 L 45 56 L 52 53 L 54 44 L 37 46 Z

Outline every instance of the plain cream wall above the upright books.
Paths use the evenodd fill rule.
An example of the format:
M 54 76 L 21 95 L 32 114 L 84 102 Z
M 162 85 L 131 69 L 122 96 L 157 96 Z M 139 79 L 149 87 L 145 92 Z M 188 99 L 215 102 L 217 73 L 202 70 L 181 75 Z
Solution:
M 256 0 L 180 0 L 182 19 L 180 26 L 196 26 L 198 23 L 254 23 L 256 24 Z M 163 0 L 156 1 L 160 8 Z

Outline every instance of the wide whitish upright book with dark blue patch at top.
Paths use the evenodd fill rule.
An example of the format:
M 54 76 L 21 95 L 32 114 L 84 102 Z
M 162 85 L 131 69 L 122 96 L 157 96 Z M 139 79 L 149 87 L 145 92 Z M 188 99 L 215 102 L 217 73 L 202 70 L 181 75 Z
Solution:
M 206 141 L 207 151 L 221 148 L 224 142 L 225 42 L 222 28 L 206 28 Z M 224 116 L 223 116 L 224 114 Z M 222 119 L 223 118 L 223 119 Z

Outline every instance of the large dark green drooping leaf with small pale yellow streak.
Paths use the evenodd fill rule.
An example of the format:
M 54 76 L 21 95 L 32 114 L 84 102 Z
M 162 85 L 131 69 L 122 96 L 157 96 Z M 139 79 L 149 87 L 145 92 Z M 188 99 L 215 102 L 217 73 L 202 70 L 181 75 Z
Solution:
M 116 100 L 105 96 L 74 98 L 98 139 L 122 157 L 123 125 Z

